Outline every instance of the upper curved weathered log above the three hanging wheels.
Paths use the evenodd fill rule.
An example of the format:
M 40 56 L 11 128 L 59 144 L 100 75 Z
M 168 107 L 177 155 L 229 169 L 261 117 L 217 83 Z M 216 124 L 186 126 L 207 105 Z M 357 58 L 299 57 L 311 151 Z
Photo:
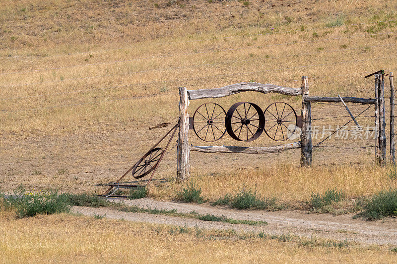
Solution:
M 262 84 L 256 82 L 235 83 L 221 88 L 199 89 L 188 91 L 189 100 L 204 98 L 220 98 L 238 94 L 246 91 L 267 93 L 278 93 L 282 95 L 301 95 L 301 88 L 288 88 L 274 84 Z

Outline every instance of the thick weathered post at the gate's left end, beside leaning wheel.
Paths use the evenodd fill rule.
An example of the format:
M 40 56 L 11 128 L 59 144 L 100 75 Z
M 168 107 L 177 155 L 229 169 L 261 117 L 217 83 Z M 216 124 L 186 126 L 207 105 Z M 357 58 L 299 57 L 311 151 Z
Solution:
M 179 89 L 179 133 L 178 133 L 178 157 L 177 157 L 177 180 L 182 182 L 189 178 L 189 97 L 186 87 Z

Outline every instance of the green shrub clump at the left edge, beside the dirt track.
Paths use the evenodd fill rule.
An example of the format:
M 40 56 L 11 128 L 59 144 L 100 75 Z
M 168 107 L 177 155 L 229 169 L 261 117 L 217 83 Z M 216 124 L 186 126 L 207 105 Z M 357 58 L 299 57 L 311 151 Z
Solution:
M 18 218 L 70 211 L 68 196 L 58 194 L 58 191 L 26 193 L 23 187 L 19 187 L 12 195 L 0 194 L 0 196 L 1 207 L 15 210 Z

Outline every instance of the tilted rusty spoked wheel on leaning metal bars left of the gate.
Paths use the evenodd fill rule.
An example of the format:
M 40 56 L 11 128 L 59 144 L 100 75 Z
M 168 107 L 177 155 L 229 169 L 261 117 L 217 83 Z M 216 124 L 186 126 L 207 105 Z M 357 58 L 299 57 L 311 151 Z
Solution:
M 160 161 L 160 156 L 163 154 L 163 149 L 154 148 L 146 153 L 142 158 L 136 162 L 132 168 L 132 176 L 135 179 L 142 178 L 149 174 Z

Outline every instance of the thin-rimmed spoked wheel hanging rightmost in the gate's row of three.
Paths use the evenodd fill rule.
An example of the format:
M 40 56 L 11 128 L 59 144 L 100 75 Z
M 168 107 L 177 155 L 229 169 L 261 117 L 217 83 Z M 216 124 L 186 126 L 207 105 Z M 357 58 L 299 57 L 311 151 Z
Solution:
M 275 141 L 289 139 L 296 130 L 297 118 L 294 108 L 283 103 L 276 102 L 265 109 L 265 133 Z

